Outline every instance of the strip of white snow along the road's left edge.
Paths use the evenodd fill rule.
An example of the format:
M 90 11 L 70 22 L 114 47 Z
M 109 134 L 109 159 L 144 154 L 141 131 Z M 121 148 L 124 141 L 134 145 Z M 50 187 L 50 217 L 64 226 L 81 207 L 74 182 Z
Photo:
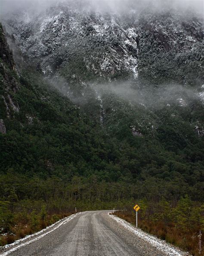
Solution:
M 10 250 L 6 251 L 5 253 L 2 253 L 0 254 L 0 256 L 6 256 L 8 255 L 9 253 L 12 253 L 16 250 L 18 250 L 19 248 L 23 247 L 23 246 L 26 246 L 30 243 L 33 243 L 39 239 L 41 239 L 42 237 L 46 236 L 47 234 L 53 232 L 54 230 L 56 230 L 57 228 L 59 228 L 61 225 L 64 225 L 66 224 L 68 221 L 71 221 L 73 218 L 75 218 L 77 215 L 81 214 L 81 212 L 78 212 L 76 214 L 72 214 L 66 218 L 63 218 L 59 221 L 57 221 L 56 223 L 40 230 L 39 232 L 37 233 L 34 233 L 32 235 L 29 235 L 29 236 L 26 236 L 22 239 L 19 239 L 19 240 L 16 240 L 14 243 L 11 243 L 11 244 L 7 244 L 3 247 L 1 247 L 0 249 L 8 249 L 8 248 L 11 248 Z

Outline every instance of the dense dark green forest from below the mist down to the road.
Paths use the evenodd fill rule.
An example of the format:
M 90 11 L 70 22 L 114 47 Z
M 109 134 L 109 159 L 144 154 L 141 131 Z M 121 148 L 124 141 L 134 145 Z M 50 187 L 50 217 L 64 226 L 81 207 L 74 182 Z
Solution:
M 195 130 L 203 122 L 202 102 L 144 112 L 105 93 L 102 125 L 87 114 L 87 105 L 71 102 L 40 71 L 23 67 L 17 73 L 2 28 L 0 33 L 0 120 L 6 128 L 0 133 L 0 246 L 75 207 L 124 209 L 140 201 L 149 216 L 145 221 L 168 219 L 186 231 L 185 202 L 193 211 L 189 223 L 204 228 L 204 144 Z M 137 136 L 131 129 L 135 120 L 144 124 Z M 157 124 L 153 131 L 149 120 Z M 158 204 L 161 212 L 150 207 Z M 174 223 L 166 215 L 170 205 L 178 205 L 174 214 L 183 219 Z

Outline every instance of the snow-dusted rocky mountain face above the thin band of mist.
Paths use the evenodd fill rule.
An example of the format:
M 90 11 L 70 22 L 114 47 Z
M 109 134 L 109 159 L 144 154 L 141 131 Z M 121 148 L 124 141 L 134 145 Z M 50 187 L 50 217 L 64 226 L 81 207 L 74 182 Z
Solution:
M 193 84 L 202 78 L 202 22 L 193 13 L 103 13 L 58 4 L 4 19 L 10 42 L 46 76 L 144 78 Z M 199 82 L 198 82 L 199 83 Z

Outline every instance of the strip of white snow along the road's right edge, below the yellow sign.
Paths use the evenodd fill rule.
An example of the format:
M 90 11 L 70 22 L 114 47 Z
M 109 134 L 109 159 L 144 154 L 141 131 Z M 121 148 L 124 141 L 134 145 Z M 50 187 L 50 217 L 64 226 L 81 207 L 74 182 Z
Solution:
M 130 224 L 129 222 L 119 217 L 116 217 L 115 215 L 112 215 L 110 213 L 108 214 L 112 219 L 114 219 L 114 221 L 117 221 L 118 224 L 121 224 L 124 228 L 126 228 L 127 230 L 130 230 L 131 232 L 136 234 L 136 236 L 138 236 L 140 239 L 149 243 L 152 247 L 155 247 L 157 250 L 161 251 L 165 255 L 168 255 L 168 256 L 190 256 L 191 255 L 190 253 L 182 252 L 181 250 L 179 250 L 179 248 L 176 248 L 173 245 L 170 245 L 169 243 L 159 239 L 158 237 L 155 237 L 154 235 L 150 235 L 139 228 L 133 227 L 133 225 Z

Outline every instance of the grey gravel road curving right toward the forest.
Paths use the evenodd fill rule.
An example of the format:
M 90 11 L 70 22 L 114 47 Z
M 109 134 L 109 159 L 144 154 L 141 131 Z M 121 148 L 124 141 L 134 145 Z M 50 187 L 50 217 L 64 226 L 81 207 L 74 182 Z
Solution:
M 108 215 L 87 211 L 15 251 L 12 256 L 163 256 Z M 10 250 L 10 249 L 9 249 Z

